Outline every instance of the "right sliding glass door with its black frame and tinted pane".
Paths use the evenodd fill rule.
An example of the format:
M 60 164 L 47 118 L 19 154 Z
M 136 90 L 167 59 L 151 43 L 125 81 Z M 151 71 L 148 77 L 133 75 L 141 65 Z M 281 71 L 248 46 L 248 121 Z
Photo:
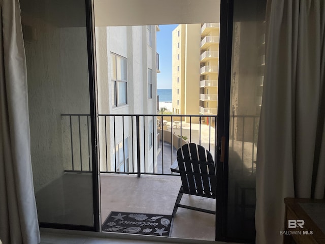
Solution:
M 217 221 L 217 239 L 244 242 L 255 239 L 265 8 L 266 1 L 221 1 L 216 219 L 222 221 Z

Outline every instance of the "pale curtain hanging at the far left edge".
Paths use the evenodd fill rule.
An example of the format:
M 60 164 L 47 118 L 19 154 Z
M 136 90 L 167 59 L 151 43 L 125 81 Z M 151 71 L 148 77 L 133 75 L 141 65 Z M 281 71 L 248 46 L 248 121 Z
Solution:
M 18 0 L 0 0 L 0 239 L 40 242 Z

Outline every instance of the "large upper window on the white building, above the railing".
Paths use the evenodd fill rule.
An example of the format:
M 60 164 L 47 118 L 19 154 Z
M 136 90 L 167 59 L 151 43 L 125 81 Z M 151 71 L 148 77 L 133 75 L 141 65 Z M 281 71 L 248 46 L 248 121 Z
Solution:
M 127 104 L 126 58 L 111 53 L 111 71 L 114 106 L 125 105 Z

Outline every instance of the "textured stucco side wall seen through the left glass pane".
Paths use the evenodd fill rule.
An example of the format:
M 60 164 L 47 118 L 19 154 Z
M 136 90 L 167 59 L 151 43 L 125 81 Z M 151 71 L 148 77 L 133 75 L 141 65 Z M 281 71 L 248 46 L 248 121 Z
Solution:
M 63 136 L 69 128 L 61 114 L 89 113 L 86 30 L 59 28 L 28 16 L 22 19 L 36 37 L 25 41 L 25 52 L 31 160 L 37 192 L 62 175 L 64 164 L 71 160 L 71 150 L 66 150 L 70 138 Z M 81 126 L 85 123 L 82 121 Z M 82 157 L 88 158 L 85 154 Z

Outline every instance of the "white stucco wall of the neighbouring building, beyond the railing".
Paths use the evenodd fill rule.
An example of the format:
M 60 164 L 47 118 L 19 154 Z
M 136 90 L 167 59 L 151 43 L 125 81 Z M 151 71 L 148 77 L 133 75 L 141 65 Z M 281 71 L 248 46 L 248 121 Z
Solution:
M 99 114 L 154 114 L 156 104 L 156 39 L 155 26 L 150 26 L 152 33 L 152 46 L 147 45 L 147 26 L 115 26 L 96 27 L 96 58 L 98 72 L 98 94 Z M 111 57 L 115 53 L 127 59 L 127 104 L 115 107 L 113 103 L 113 82 L 111 81 Z M 152 99 L 148 99 L 148 68 L 152 69 Z M 141 119 L 140 144 L 142 153 L 141 162 L 146 161 L 148 170 L 152 170 L 153 148 L 148 147 L 148 121 Z M 102 170 L 115 170 L 115 148 L 116 145 L 129 137 L 129 169 L 132 170 L 134 153 L 137 150 L 134 143 L 132 151 L 132 140 L 135 142 L 135 119 L 127 116 L 124 118 L 124 128 L 121 117 L 100 116 L 100 165 Z M 156 125 L 154 123 L 154 128 Z M 114 134 L 115 130 L 115 134 Z M 124 135 L 123 135 L 124 130 Z M 143 132 L 145 130 L 145 133 Z M 154 135 L 156 133 L 153 133 Z M 155 154 L 156 155 L 156 154 Z M 155 156 L 156 157 L 156 156 Z M 107 166 L 106 166 L 107 165 Z M 135 170 L 137 168 L 135 167 Z

